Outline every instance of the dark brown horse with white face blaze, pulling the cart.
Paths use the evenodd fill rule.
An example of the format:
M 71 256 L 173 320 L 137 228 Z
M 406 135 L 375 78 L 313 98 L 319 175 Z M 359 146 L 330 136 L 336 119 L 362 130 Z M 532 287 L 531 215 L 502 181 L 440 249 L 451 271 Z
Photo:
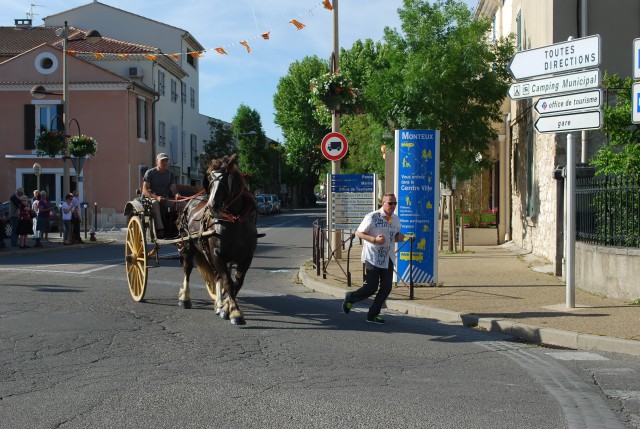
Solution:
M 244 325 L 236 296 L 258 244 L 258 211 L 236 163 L 237 154 L 212 160 L 205 181 L 209 184 L 208 198 L 190 201 L 177 221 L 181 236 L 189 237 L 179 246 L 184 281 L 178 303 L 191 308 L 189 276 L 195 262 L 210 292 L 216 285 L 216 313 L 234 325 Z M 235 276 L 231 275 L 232 265 Z M 224 302 L 223 289 L 227 296 Z

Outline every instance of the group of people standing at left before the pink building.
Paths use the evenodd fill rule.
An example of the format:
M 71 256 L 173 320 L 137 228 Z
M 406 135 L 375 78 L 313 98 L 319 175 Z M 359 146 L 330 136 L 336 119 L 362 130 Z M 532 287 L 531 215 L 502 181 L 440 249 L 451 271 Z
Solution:
M 11 246 L 27 249 L 28 237 L 34 239 L 33 247 L 43 247 L 43 242 L 49 241 L 51 229 L 51 212 L 55 203 L 47 198 L 46 191 L 33 191 L 33 198 L 25 195 L 23 188 L 18 188 L 9 198 L 9 224 L 11 226 Z M 62 221 L 64 225 L 64 244 L 82 243 L 80 237 L 80 200 L 78 191 L 68 194 L 61 206 Z M 6 220 L 5 220 L 6 221 Z M 5 228 L 2 228 L 0 238 L 4 247 Z

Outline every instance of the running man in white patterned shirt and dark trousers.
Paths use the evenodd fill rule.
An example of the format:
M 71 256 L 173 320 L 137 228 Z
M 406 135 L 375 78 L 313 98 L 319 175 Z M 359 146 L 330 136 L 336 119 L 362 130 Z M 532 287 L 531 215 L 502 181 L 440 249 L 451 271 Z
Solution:
M 382 305 L 391 293 L 393 282 L 394 243 L 404 240 L 400 232 L 400 218 L 394 213 L 398 200 L 395 194 L 385 194 L 382 197 L 382 207 L 367 214 L 356 236 L 363 240 L 362 263 L 364 264 L 364 283 L 353 292 L 347 292 L 342 303 L 342 311 L 349 313 L 354 303 L 376 297 L 367 313 L 367 322 L 383 325 L 387 322 L 380 317 Z

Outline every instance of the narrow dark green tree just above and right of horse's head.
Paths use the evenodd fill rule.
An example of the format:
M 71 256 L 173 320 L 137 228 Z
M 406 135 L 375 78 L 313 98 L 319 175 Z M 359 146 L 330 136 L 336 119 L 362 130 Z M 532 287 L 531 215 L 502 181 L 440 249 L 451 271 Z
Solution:
M 249 175 L 252 188 L 264 185 L 267 177 L 267 137 L 262 129 L 260 114 L 245 104 L 238 107 L 233 118 L 234 139 L 237 137 L 240 170 Z M 248 134 L 253 133 L 255 134 Z

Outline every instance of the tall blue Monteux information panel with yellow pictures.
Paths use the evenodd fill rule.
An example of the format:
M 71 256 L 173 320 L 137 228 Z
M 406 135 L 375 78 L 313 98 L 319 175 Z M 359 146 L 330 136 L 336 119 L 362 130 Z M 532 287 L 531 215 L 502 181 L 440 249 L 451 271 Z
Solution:
M 402 233 L 413 243 L 413 282 L 438 281 L 438 192 L 440 131 L 396 130 L 395 186 Z M 398 243 L 397 271 L 409 282 L 409 243 Z

